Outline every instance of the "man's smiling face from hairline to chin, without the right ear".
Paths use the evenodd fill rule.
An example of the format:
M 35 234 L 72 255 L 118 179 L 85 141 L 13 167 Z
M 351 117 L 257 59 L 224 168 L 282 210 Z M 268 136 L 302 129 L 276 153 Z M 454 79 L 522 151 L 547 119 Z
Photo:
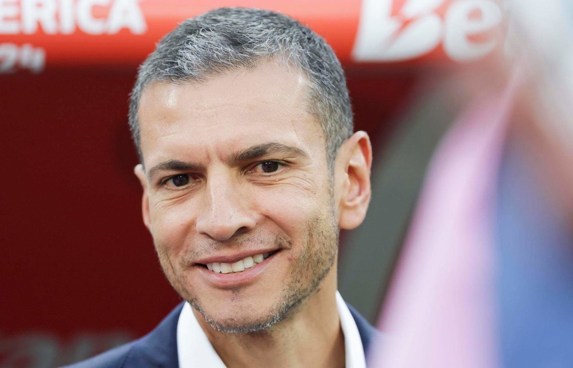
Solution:
M 141 98 L 144 219 L 172 286 L 218 329 L 261 329 L 336 283 L 337 208 L 306 93 L 268 62 Z

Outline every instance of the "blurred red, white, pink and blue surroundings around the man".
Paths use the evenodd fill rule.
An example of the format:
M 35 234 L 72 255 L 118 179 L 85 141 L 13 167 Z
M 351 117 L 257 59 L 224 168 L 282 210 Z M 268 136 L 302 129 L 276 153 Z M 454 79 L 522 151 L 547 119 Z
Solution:
M 180 302 L 140 215 L 136 68 L 183 19 L 281 11 L 323 35 L 374 144 L 339 290 L 380 367 L 573 362 L 568 0 L 0 0 L 0 367 L 60 366 Z

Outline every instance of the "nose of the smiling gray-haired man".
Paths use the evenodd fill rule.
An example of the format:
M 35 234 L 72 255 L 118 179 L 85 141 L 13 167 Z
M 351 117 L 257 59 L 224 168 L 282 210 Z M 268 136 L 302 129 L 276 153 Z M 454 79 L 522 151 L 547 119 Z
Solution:
M 207 180 L 203 208 L 197 217 L 199 234 L 223 242 L 254 228 L 256 220 L 246 207 L 248 200 L 237 187 L 222 175 Z

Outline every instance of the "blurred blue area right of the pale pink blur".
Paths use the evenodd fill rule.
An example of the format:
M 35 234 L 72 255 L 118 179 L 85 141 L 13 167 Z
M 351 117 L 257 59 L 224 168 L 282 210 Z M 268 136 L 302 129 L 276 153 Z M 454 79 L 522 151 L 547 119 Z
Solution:
M 499 178 L 496 243 L 503 367 L 573 366 L 573 232 L 509 140 Z

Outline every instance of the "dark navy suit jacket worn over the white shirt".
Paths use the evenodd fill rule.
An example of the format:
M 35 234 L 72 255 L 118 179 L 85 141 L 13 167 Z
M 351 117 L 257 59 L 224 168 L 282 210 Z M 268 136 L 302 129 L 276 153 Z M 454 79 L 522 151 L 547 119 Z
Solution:
M 144 337 L 116 347 L 87 361 L 68 366 L 68 368 L 178 368 L 177 322 L 181 308 L 183 308 L 183 303 L 172 310 L 155 330 Z M 350 305 L 348 308 L 356 321 L 356 326 L 358 326 L 364 353 L 366 354 L 372 339 L 378 337 L 380 333 L 354 308 Z

